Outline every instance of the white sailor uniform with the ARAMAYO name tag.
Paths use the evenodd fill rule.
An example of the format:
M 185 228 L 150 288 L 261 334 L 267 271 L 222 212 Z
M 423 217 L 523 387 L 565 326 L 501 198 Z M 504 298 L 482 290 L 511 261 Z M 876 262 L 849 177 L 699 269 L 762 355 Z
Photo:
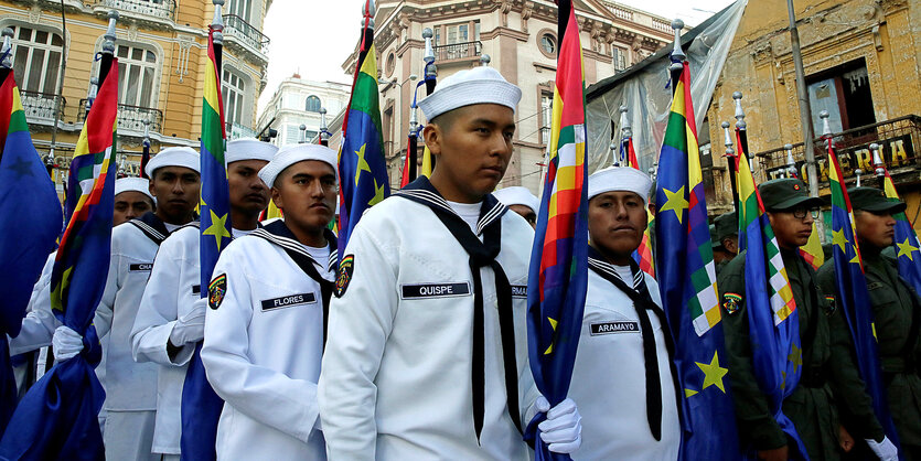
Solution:
M 623 271 L 620 275 L 619 269 Z M 601 276 L 604 274 L 604 276 Z M 607 278 L 606 278 L 607 277 Z M 655 304 L 645 309 L 647 326 L 635 303 L 610 281 L 639 291 L 645 285 Z M 574 460 L 676 460 L 681 444 L 675 378 L 670 354 L 670 333 L 663 329 L 664 312 L 658 285 L 634 264 L 619 268 L 589 248 L 588 293 L 582 331 L 569 397 L 582 416 L 582 444 Z M 657 311 L 657 312 L 656 312 Z M 647 416 L 647 393 L 643 331 L 653 332 L 662 409 L 661 420 Z M 647 343 L 652 344 L 652 343 Z M 655 406 L 652 406 L 653 410 Z M 649 419 L 653 419 L 650 421 Z M 661 439 L 651 429 L 660 422 Z

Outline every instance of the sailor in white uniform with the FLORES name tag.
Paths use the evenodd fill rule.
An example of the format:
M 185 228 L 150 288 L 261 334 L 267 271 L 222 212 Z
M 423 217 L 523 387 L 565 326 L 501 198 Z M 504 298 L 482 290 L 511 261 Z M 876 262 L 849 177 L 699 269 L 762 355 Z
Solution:
M 323 460 L 317 379 L 334 290 L 336 152 L 282 147 L 259 171 L 285 214 L 221 254 L 202 363 L 224 399 L 218 460 Z

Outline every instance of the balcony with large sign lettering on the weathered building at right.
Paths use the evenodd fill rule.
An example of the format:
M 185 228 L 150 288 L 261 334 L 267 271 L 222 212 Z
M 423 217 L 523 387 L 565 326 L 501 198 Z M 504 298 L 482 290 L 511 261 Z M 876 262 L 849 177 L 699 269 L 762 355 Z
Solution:
M 833 133 L 832 139 L 840 162 L 842 174 L 848 186 L 857 181 L 856 170 L 858 169 L 863 172 L 863 181 L 872 181 L 876 167 L 869 149 L 871 143 L 880 146 L 882 161 L 897 183 L 918 181 L 918 170 L 921 170 L 921 157 L 918 152 L 921 147 L 921 117 L 917 115 Z M 820 187 L 826 187 L 829 167 L 828 143 L 821 138 L 815 139 L 814 143 Z M 781 178 L 790 168 L 786 164 L 786 150 L 783 147 L 758 152 L 752 158 L 761 162 L 761 169 L 767 175 L 764 178 L 759 174 L 759 180 Z M 800 178 L 807 178 L 805 147 L 802 142 L 793 144 L 793 161 L 796 174 Z

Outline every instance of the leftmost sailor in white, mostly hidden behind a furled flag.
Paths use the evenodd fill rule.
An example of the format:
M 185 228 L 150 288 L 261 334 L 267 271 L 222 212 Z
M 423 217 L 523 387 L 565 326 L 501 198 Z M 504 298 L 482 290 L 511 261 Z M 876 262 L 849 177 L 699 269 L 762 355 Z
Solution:
M 142 178 L 121 178 L 115 181 L 115 210 L 113 212 L 113 226 L 118 226 L 153 210 L 153 195 L 150 193 L 150 183 Z M 49 256 L 39 281 L 32 289 L 32 298 L 29 300 L 28 314 L 22 320 L 22 330 L 17 337 L 10 339 L 11 355 L 26 353 L 40 349 L 35 379 L 42 377 L 46 372 L 47 346 L 54 330 L 62 323 L 51 311 L 51 271 L 54 268 L 54 258 L 57 251 Z M 106 345 L 108 340 L 101 341 L 103 358 L 96 366 L 96 376 L 103 388 L 106 387 Z M 58 352 L 60 353 L 60 352 Z M 20 388 L 20 392 L 24 392 Z M 100 426 L 105 424 L 106 410 L 99 411 Z

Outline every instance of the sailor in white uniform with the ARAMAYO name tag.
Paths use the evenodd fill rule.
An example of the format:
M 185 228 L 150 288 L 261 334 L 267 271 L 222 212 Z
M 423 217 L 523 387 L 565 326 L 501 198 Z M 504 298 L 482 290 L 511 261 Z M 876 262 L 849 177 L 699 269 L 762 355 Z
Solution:
M 612 167 L 588 180 L 589 271 L 569 397 L 582 415 L 575 460 L 675 460 L 681 444 L 672 342 L 655 280 L 633 260 L 652 181 Z

